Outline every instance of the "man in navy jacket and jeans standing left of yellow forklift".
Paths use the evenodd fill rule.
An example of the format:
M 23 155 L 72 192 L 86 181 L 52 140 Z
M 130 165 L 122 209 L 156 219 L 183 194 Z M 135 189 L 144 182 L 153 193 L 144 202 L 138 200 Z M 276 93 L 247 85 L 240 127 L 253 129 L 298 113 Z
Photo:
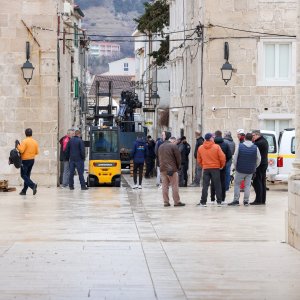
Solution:
M 67 145 L 67 158 L 70 160 L 70 176 L 69 187 L 74 190 L 74 173 L 77 170 L 79 181 L 82 190 L 87 190 L 85 180 L 83 177 L 85 149 L 83 140 L 80 137 L 80 130 L 75 131 L 75 136 L 72 137 Z

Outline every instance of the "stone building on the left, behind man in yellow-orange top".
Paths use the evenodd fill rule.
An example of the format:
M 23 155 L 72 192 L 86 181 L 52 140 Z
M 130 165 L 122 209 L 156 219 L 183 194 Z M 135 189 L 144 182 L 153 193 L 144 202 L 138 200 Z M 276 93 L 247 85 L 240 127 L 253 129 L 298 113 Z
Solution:
M 81 123 L 75 111 L 80 110 L 76 79 L 77 86 L 84 81 L 79 54 L 86 46 L 80 43 L 82 15 L 73 0 L 1 3 L 0 176 L 11 185 L 21 184 L 22 180 L 19 170 L 7 163 L 9 151 L 16 139 L 24 138 L 28 127 L 40 145 L 34 180 L 39 185 L 57 183 L 58 138 Z M 26 42 L 34 66 L 28 85 L 21 71 L 26 61 Z

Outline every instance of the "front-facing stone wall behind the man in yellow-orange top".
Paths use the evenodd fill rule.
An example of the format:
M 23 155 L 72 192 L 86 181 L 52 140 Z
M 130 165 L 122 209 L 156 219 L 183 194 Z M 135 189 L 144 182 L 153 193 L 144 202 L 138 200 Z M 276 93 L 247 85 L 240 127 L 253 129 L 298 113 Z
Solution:
M 56 3 L 51 0 L 2 1 L 0 12 L 0 162 L 1 179 L 22 183 L 19 170 L 8 165 L 9 151 L 24 130 L 33 129 L 40 145 L 33 179 L 55 185 L 57 180 L 57 39 Z M 22 23 L 32 29 L 31 33 Z M 53 31 L 42 31 L 32 26 Z M 35 40 L 33 38 L 35 37 Z M 21 66 L 26 61 L 25 44 L 30 42 L 33 79 L 26 85 Z

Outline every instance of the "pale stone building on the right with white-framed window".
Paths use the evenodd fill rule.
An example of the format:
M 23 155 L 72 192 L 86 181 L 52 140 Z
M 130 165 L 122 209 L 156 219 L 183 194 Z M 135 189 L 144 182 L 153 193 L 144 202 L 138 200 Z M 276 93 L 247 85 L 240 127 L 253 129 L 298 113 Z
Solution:
M 296 18 L 296 0 L 170 0 L 172 131 L 293 127 Z

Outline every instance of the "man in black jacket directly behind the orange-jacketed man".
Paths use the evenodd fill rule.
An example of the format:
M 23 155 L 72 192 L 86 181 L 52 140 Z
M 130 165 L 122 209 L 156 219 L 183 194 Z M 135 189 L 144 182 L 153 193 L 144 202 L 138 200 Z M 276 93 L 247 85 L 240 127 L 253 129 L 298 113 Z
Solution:
M 229 162 L 232 159 L 232 152 L 230 150 L 229 145 L 224 141 L 222 137 L 222 132 L 220 130 L 217 130 L 215 132 L 215 143 L 219 145 L 225 154 L 226 157 L 226 163 Z M 222 186 L 222 201 L 225 201 L 226 198 L 226 166 L 225 168 L 220 170 L 220 180 L 221 180 L 221 186 Z M 211 201 L 215 200 L 215 187 L 213 183 L 211 184 Z

